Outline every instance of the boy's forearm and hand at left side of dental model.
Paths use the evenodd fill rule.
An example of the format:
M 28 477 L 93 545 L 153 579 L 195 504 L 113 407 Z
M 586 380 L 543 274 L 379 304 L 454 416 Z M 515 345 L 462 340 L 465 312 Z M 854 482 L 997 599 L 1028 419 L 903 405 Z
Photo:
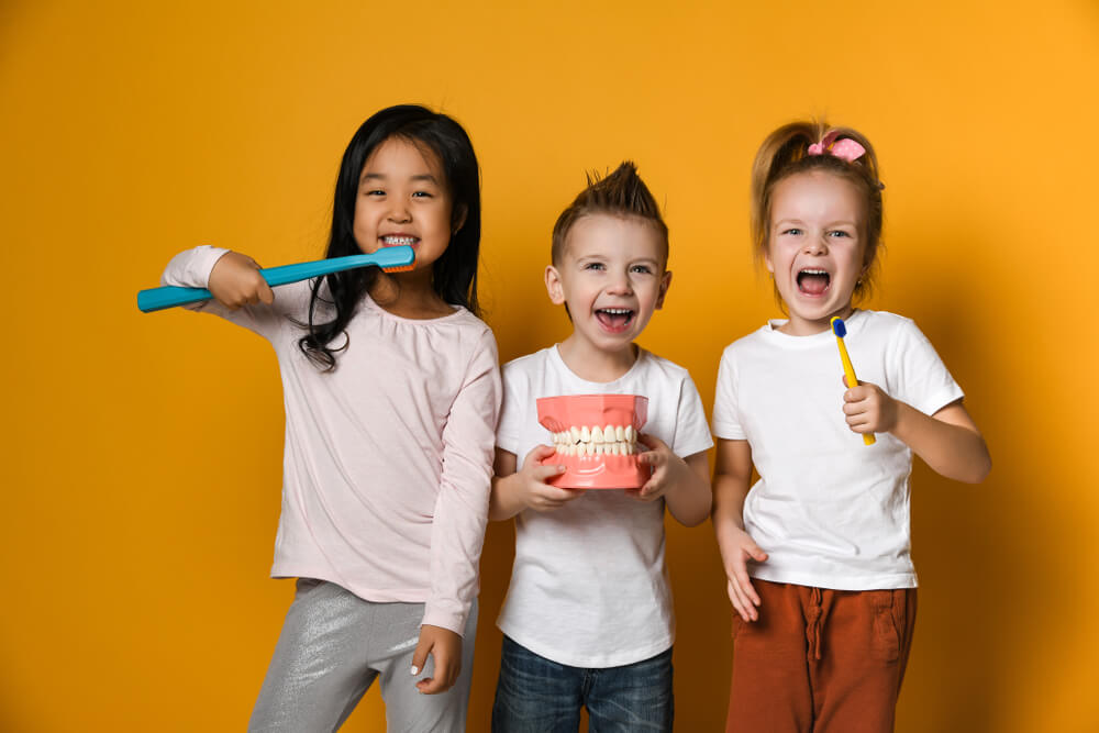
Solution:
M 515 471 L 515 454 L 496 449 L 492 495 L 488 518 L 493 522 L 511 519 L 526 508 L 537 511 L 557 509 L 584 495 L 579 489 L 559 489 L 546 480 L 565 473 L 564 466 L 543 466 L 542 460 L 554 454 L 548 445 L 535 446 L 523 460 L 523 469 Z

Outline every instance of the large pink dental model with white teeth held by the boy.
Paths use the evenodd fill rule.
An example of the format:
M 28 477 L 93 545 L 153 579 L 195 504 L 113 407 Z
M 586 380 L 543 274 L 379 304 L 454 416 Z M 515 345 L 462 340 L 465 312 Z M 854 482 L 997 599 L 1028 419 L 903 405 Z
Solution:
M 637 434 L 648 419 L 639 395 L 571 395 L 537 400 L 539 422 L 555 453 L 544 465 L 565 466 L 546 480 L 566 489 L 639 489 L 652 470 L 637 457 Z

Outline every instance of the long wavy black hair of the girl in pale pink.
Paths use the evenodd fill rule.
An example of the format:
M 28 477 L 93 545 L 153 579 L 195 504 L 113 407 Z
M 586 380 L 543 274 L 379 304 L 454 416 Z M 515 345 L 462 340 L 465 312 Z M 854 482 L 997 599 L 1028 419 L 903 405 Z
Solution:
M 370 154 L 391 137 L 425 146 L 435 154 L 443 167 L 445 185 L 451 193 L 452 230 L 459 222 L 462 227 L 451 236 L 446 251 L 432 265 L 432 288 L 444 302 L 462 306 L 479 315 L 477 257 L 480 248 L 480 173 L 469 135 L 462 125 L 445 114 L 415 104 L 399 104 L 375 113 L 362 124 L 347 144 L 340 164 L 332 208 L 332 235 L 324 256 L 362 254 L 354 234 L 359 176 Z M 298 346 L 317 366 L 324 370 L 335 368 L 336 353 L 346 348 L 347 342 L 344 341 L 336 348 L 329 344 L 344 333 L 359 301 L 377 278 L 378 269 L 366 267 L 313 280 L 308 322 L 300 324 L 309 333 L 298 341 Z M 326 293 L 322 293 L 322 285 L 326 286 Z M 317 322 L 318 307 L 321 303 L 330 307 L 326 311 L 335 310 L 334 319 Z

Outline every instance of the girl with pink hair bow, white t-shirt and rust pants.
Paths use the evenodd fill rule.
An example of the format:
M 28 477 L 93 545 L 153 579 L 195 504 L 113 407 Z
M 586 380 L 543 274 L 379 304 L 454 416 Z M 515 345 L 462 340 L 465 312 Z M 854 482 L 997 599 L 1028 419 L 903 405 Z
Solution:
M 991 467 L 962 389 L 915 324 L 853 306 L 876 262 L 881 189 L 855 130 L 795 122 L 756 155 L 756 256 L 789 318 L 725 348 L 718 373 L 730 733 L 892 730 L 915 624 L 912 454 L 959 481 Z M 833 318 L 846 321 L 858 384 L 843 377 Z

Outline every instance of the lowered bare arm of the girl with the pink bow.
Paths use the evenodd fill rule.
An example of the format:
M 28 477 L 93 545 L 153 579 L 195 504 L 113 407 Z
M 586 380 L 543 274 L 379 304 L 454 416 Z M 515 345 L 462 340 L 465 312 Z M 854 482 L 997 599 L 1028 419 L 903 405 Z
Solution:
M 747 564 L 763 563 L 767 553 L 744 531 L 744 498 L 752 486 L 752 447 L 747 441 L 718 440 L 713 475 L 713 531 L 725 568 L 733 608 L 745 621 L 759 618 L 759 596 L 752 587 Z

